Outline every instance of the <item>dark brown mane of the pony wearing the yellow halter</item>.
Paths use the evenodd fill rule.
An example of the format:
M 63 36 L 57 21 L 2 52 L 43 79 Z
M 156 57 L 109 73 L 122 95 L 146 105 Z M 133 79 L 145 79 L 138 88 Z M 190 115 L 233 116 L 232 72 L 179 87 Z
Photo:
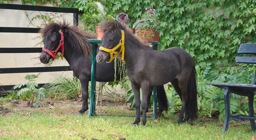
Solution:
M 121 32 L 120 30 L 124 30 L 125 33 L 125 40 L 130 40 L 133 41 L 135 43 L 138 43 L 139 46 L 143 46 L 143 47 L 149 47 L 150 43 L 145 43 L 143 42 L 141 39 L 137 38 L 134 36 L 134 34 L 131 32 L 130 28 L 127 27 L 127 25 L 122 24 L 120 22 L 117 21 L 107 21 L 102 23 L 101 26 L 102 31 L 110 31 L 110 32 L 114 32 L 117 35 L 121 36 Z M 124 41 L 126 42 L 126 41 Z

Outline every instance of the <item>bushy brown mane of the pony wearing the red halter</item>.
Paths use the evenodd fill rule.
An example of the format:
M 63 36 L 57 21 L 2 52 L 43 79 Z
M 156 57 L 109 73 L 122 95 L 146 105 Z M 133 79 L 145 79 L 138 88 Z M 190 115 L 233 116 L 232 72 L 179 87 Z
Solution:
M 78 26 L 70 25 L 66 21 L 63 23 L 49 23 L 44 28 L 40 29 L 39 33 L 43 36 L 52 34 L 53 32 L 59 33 L 61 30 L 66 40 L 70 43 L 71 47 L 78 52 L 83 53 L 86 57 L 92 54 L 92 48 L 87 39 L 96 39 L 96 35 L 88 31 L 82 31 Z M 65 40 L 64 40 L 65 41 Z

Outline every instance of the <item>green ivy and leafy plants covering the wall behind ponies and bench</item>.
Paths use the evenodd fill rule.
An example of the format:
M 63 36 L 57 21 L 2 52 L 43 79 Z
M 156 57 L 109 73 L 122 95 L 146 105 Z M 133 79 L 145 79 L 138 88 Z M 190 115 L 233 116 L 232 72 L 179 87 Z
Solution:
M 104 15 L 96 2 L 104 6 Z M 223 90 L 205 85 L 205 82 L 252 83 L 253 66 L 236 64 L 234 58 L 240 43 L 256 43 L 254 0 L 22 0 L 22 3 L 78 8 L 84 13 L 79 24 L 92 31 L 102 18 L 111 19 L 110 15 L 116 17 L 120 12 L 129 15 L 128 25 L 132 26 L 141 18 L 144 9 L 152 6 L 160 20 L 158 49 L 180 47 L 195 60 L 200 115 L 211 117 L 220 113 L 220 119 L 224 115 Z M 170 86 L 167 93 L 175 92 Z M 176 106 L 180 105 L 176 96 L 169 97 Z M 232 95 L 231 98 L 231 112 L 247 114 L 248 104 L 241 102 L 244 97 Z M 174 104 L 171 106 L 173 108 Z M 171 111 L 175 113 L 176 110 Z

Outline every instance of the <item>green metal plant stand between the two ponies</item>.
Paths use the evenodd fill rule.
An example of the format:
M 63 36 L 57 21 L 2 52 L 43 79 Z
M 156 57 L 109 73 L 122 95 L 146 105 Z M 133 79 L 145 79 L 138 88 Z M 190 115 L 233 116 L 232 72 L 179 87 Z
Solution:
M 88 39 L 87 42 L 92 44 L 92 70 L 91 70 L 91 93 L 90 93 L 90 108 L 88 118 L 91 116 L 124 116 L 124 117 L 136 117 L 132 115 L 108 115 L 108 114 L 96 114 L 95 111 L 95 96 L 96 96 L 96 53 L 97 53 L 97 43 L 101 43 L 101 40 Z M 158 42 L 150 42 L 154 50 L 157 50 Z M 153 87 L 153 120 L 156 119 L 157 113 L 157 87 Z M 149 117 L 149 116 L 147 116 Z

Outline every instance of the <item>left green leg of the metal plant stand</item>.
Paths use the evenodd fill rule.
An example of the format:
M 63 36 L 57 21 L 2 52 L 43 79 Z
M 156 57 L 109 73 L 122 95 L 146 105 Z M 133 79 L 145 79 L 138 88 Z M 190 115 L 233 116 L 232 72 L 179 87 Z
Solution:
M 98 45 L 92 44 L 92 70 L 91 70 L 91 93 L 90 93 L 90 109 L 88 118 L 95 115 L 95 95 L 96 95 L 96 53 Z

